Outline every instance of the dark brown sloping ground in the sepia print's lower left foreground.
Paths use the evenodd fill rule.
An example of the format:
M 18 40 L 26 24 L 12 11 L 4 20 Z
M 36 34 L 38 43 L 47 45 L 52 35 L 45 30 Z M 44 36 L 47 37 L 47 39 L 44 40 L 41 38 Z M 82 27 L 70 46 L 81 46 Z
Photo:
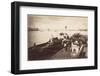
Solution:
M 85 47 L 87 48 L 87 47 Z M 85 49 L 86 50 L 86 49 Z M 81 55 L 80 58 L 86 58 Z M 71 56 L 69 49 L 65 50 L 60 44 L 55 46 L 49 46 L 48 43 L 31 47 L 28 50 L 28 60 L 53 60 L 53 59 L 74 59 Z

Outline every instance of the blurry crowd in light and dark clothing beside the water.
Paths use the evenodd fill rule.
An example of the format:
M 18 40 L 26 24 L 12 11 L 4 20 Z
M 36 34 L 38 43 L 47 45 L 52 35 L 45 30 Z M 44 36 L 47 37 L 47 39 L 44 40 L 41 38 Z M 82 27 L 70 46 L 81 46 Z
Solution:
M 87 36 L 80 33 L 75 33 L 72 36 L 69 36 L 67 33 L 59 33 L 59 37 L 54 37 L 49 40 L 50 45 L 60 44 L 63 46 L 65 51 L 71 51 L 72 56 L 78 56 L 82 53 L 86 55 L 84 47 L 87 47 Z

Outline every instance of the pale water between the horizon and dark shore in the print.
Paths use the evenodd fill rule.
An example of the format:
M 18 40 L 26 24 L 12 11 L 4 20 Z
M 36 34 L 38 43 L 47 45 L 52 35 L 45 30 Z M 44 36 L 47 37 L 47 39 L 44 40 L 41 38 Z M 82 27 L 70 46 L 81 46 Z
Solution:
M 87 31 L 29 31 L 28 32 L 28 47 L 34 45 L 34 43 L 42 44 L 49 41 L 52 37 L 60 37 L 59 33 L 67 33 L 72 36 L 74 33 L 80 33 L 82 35 L 87 35 Z

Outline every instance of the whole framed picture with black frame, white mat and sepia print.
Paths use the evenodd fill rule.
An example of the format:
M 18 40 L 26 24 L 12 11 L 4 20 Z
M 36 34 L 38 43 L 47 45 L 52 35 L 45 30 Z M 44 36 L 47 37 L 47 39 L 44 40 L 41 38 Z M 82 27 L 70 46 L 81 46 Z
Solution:
M 97 69 L 96 6 L 12 2 L 11 73 Z

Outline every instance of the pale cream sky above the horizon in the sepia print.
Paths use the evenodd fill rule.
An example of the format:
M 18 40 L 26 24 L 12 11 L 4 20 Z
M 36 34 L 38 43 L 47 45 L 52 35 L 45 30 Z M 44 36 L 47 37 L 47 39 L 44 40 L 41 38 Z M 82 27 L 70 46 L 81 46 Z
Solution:
M 88 17 L 74 16 L 36 16 L 28 15 L 28 27 L 39 29 L 62 30 L 65 29 L 87 29 Z

